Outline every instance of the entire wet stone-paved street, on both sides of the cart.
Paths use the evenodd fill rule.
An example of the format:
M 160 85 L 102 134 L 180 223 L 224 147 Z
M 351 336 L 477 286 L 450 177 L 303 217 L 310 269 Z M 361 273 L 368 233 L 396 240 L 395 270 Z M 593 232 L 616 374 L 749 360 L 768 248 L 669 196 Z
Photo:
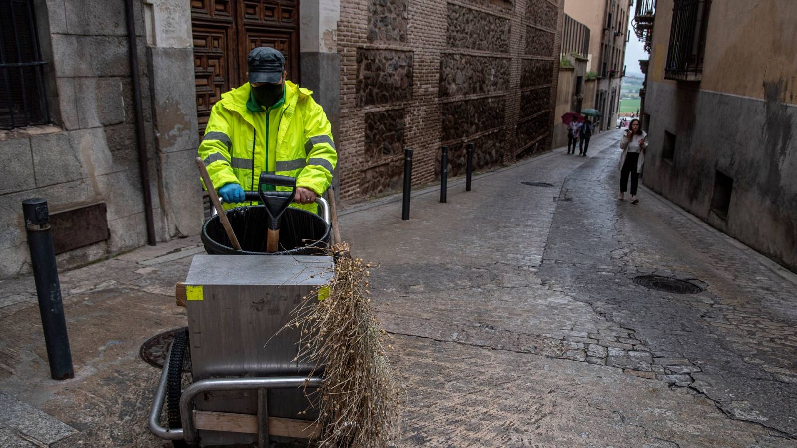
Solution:
M 453 180 L 447 203 L 418 191 L 409 221 L 395 196 L 342 210 L 344 240 L 379 264 L 409 391 L 397 446 L 797 446 L 797 276 L 650 191 L 616 200 L 618 136 L 471 192 Z M 185 324 L 174 284 L 202 252 L 186 238 L 62 273 L 65 382 L 47 379 L 32 279 L 2 282 L 0 403 L 51 431 L 0 413 L 0 446 L 168 446 L 146 427 L 159 371 L 139 347 Z

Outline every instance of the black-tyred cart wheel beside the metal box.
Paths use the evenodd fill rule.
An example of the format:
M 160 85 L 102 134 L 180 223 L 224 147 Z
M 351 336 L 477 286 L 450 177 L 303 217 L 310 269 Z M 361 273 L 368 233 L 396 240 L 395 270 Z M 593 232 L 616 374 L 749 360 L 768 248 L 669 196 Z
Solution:
M 191 382 L 191 355 L 188 345 L 188 328 L 177 333 L 171 343 L 171 356 L 169 357 L 169 372 L 167 374 L 166 404 L 169 417 L 169 429 L 183 427 L 180 419 L 180 396 L 183 389 Z M 183 440 L 174 441 L 175 448 L 186 448 Z

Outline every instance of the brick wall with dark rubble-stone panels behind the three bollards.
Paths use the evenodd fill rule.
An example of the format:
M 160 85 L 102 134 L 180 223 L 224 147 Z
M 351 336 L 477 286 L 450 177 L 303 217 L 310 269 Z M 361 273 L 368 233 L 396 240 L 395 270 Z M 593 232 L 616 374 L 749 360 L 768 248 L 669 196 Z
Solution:
M 551 147 L 563 0 L 341 0 L 340 195 L 464 174 Z

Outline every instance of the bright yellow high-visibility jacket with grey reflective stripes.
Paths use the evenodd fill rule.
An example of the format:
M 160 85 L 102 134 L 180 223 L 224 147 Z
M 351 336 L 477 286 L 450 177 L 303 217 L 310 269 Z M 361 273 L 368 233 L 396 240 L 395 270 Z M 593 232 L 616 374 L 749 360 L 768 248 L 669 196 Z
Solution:
M 222 93 L 210 112 L 198 152 L 214 187 L 238 183 L 245 191 L 257 191 L 261 171 L 269 171 L 295 177 L 296 187 L 324 193 L 338 155 L 327 115 L 312 91 L 285 81 L 285 95 L 269 109 L 257 105 L 249 91 L 246 83 Z M 229 209 L 251 203 L 223 205 Z M 316 204 L 293 205 L 316 211 Z

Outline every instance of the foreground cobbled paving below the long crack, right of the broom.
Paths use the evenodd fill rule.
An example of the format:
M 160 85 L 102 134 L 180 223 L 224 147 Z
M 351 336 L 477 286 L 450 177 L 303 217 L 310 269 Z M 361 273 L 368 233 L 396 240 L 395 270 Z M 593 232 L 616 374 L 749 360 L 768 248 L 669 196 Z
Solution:
M 397 446 L 794 446 L 713 401 L 611 367 L 396 336 Z

